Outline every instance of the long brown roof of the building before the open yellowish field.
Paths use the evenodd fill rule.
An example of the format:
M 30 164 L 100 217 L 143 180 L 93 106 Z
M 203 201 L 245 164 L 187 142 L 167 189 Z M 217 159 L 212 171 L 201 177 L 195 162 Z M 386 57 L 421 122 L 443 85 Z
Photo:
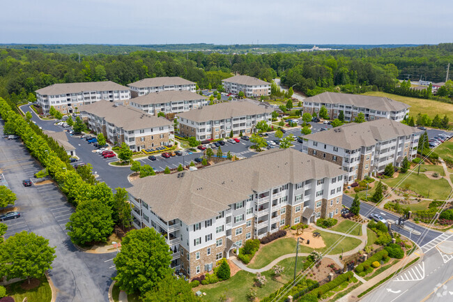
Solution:
M 323 92 L 316 96 L 311 96 L 304 100 L 304 103 L 307 102 L 353 105 L 385 112 L 405 110 L 410 107 L 405 103 L 382 96 L 362 96 L 359 94 L 336 92 Z

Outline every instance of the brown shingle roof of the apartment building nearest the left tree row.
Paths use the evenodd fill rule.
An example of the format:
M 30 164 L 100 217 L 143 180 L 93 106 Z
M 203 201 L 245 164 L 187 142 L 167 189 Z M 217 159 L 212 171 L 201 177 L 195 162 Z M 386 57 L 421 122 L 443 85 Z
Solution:
M 160 126 L 171 126 L 173 123 L 164 117 L 153 116 L 130 106 L 115 105 L 108 100 L 100 100 L 81 107 L 81 110 L 103 117 L 124 130 L 138 130 Z

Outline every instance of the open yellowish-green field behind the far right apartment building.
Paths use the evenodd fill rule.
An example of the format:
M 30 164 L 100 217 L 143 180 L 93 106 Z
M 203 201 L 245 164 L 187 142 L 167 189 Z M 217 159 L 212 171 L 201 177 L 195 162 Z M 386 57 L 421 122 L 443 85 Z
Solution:
M 391 98 L 392 100 L 397 100 L 399 102 L 406 103 L 410 105 L 409 112 L 410 116 L 417 116 L 420 112 L 421 114 L 428 114 L 428 116 L 433 119 L 436 114 L 440 115 L 440 118 L 444 114 L 447 114 L 450 119 L 450 123 L 453 121 L 453 105 L 448 103 L 439 102 L 437 100 L 425 100 L 422 98 L 409 98 L 407 96 L 397 96 L 395 94 L 385 93 L 381 91 L 369 91 L 363 93 L 367 96 L 384 96 L 386 98 Z

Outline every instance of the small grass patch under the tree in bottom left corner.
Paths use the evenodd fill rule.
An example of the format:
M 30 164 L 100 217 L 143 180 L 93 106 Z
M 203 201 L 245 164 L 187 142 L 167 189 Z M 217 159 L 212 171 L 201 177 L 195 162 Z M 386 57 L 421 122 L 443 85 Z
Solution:
M 50 289 L 47 278 L 40 278 L 40 285 L 29 291 L 20 287 L 22 282 L 19 281 L 6 286 L 6 296 L 13 296 L 15 301 L 22 301 L 26 299 L 30 302 L 49 302 L 52 299 L 52 289 Z

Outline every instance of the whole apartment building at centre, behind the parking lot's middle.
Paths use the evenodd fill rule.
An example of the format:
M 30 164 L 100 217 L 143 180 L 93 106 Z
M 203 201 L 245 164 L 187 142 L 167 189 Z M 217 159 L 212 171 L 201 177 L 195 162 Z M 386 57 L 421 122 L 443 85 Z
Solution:
M 266 121 L 270 126 L 272 109 L 243 100 L 204 106 L 177 114 L 179 134 L 197 140 L 218 139 L 230 135 L 256 133 L 256 124 Z

